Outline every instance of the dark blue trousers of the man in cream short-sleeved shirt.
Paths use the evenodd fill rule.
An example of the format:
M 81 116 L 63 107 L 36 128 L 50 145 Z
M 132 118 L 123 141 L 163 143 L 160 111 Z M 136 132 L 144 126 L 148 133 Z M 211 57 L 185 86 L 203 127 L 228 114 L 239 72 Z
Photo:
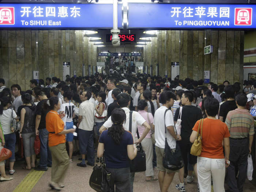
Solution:
M 78 129 L 79 150 L 81 154 L 87 155 L 88 163 L 94 164 L 93 131 Z

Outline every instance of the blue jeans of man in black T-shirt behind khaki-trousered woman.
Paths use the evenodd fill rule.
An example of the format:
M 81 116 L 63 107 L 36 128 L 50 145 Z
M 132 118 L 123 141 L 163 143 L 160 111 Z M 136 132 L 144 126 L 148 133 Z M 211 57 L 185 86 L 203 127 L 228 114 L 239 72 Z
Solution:
M 47 167 L 52 165 L 52 155 L 48 145 L 49 132 L 46 129 L 38 129 L 40 138 L 40 167 Z

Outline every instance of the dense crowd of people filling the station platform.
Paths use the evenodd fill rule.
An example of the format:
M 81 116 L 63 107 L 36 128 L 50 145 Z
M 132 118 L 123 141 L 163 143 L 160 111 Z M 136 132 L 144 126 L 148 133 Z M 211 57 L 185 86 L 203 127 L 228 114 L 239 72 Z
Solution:
M 178 76 L 172 80 L 117 73 L 45 80 L 30 80 L 31 89 L 25 91 L 19 84 L 9 89 L 0 79 L 0 150 L 12 151 L 0 162 L 1 181 L 12 180 L 16 159 L 25 158 L 23 169 L 52 167 L 49 186 L 61 190 L 74 156 L 80 155 L 77 166 L 87 167 L 95 165 L 95 156 L 104 155 L 116 191 L 132 192 L 135 173 L 130 173 L 129 159 L 136 157 L 135 144 L 141 143 L 145 180 L 158 180 L 161 192 L 167 192 L 176 172 L 180 192 L 186 191 L 186 183 L 195 183 L 198 192 L 210 192 L 211 181 L 214 192 L 225 192 L 225 175 L 230 192 L 242 192 L 255 134 L 256 81 L 246 81 L 244 87 L 228 81 L 218 86 Z M 20 124 L 18 130 L 14 121 Z M 198 157 L 190 153 L 197 132 L 202 136 Z M 41 144 L 38 155 L 36 136 Z M 179 170 L 163 166 L 165 138 L 172 150 L 180 147 L 184 167 Z

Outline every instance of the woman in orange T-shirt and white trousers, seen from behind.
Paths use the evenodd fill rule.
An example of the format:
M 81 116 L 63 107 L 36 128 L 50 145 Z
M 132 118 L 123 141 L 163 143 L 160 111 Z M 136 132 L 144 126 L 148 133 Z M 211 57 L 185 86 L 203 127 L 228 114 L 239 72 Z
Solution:
M 214 192 L 225 192 L 225 167 L 228 167 L 230 163 L 229 129 L 225 123 L 215 118 L 219 110 L 217 99 L 207 98 L 204 101 L 204 108 L 207 118 L 203 119 L 203 125 L 201 122 L 202 126 L 200 125 L 200 128 L 200 120 L 196 122 L 190 136 L 190 142 L 193 143 L 196 140 L 198 128 L 200 135 L 202 134 L 202 152 L 197 157 L 199 188 L 200 192 L 211 191 L 212 177 Z M 223 154 L 223 140 L 225 158 Z

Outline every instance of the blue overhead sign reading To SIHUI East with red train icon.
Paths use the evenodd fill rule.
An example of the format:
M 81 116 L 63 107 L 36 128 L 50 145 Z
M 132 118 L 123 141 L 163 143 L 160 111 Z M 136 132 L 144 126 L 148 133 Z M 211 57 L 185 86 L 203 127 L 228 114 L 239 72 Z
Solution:
M 122 28 L 118 4 L 118 27 Z M 111 29 L 113 4 L 0 4 L 1 28 Z

